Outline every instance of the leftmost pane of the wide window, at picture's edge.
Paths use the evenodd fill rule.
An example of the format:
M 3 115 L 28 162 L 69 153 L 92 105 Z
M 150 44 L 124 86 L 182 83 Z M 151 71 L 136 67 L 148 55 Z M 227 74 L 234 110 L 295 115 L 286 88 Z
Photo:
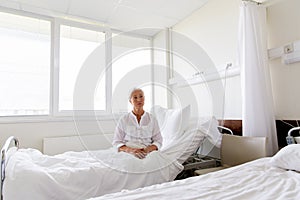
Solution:
M 49 114 L 50 28 L 0 12 L 0 116 Z

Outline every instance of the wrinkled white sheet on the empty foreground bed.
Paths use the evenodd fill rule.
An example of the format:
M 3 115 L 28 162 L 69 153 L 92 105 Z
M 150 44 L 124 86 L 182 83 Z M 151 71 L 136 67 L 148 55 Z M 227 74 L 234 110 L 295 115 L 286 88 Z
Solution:
M 108 194 L 91 200 L 300 199 L 300 173 L 270 165 L 270 158 L 184 180 Z

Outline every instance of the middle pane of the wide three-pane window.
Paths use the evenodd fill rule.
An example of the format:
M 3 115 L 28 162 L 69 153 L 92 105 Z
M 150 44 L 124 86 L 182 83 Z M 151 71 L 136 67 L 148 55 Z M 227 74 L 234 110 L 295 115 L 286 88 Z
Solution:
M 60 65 L 59 65 L 59 111 L 62 110 L 105 110 L 105 75 L 98 77 L 96 85 L 88 85 L 94 96 L 94 105 L 84 102 L 73 106 L 73 96 L 81 69 L 89 65 L 105 66 L 105 33 L 66 25 L 60 27 Z M 100 50 L 99 50 L 100 49 Z M 97 53 L 97 57 L 91 54 Z M 104 69 L 104 67 L 103 67 Z M 94 74 L 90 74 L 93 76 Z M 87 80 L 88 81 L 88 80 Z M 96 89 L 94 89 L 95 87 Z M 76 95 L 75 95 L 76 97 Z M 80 97 L 84 98 L 84 97 Z

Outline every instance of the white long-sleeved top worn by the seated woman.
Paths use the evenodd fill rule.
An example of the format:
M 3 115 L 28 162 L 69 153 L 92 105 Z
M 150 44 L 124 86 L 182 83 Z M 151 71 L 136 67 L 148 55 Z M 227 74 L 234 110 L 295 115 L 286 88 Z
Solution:
M 117 148 L 127 145 L 135 148 L 145 148 L 154 144 L 159 149 L 162 137 L 156 118 L 144 112 L 138 123 L 136 116 L 129 112 L 122 116 L 118 122 L 113 139 Z

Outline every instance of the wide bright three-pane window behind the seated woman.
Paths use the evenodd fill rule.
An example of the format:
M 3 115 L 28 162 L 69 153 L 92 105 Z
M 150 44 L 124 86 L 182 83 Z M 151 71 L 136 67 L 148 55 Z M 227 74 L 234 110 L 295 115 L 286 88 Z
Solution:
M 0 12 L 0 117 L 127 111 L 133 87 L 150 109 L 150 39 L 110 37 L 93 25 Z

